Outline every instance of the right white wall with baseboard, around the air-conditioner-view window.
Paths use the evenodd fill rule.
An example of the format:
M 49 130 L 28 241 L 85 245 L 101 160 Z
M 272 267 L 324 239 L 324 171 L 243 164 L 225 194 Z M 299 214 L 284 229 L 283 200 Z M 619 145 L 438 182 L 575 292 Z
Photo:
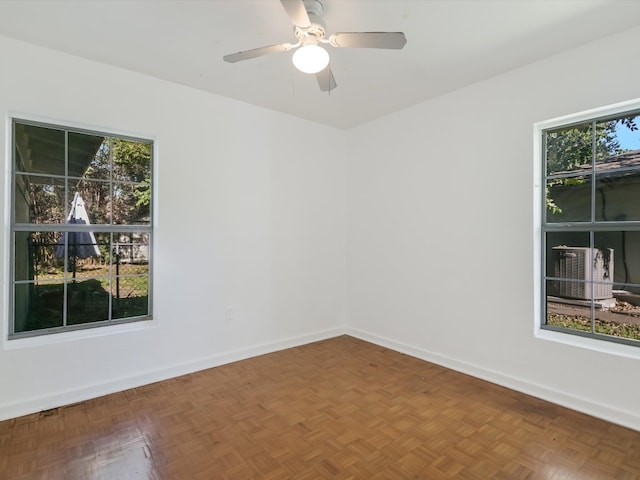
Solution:
M 352 334 L 640 429 L 637 348 L 534 338 L 532 153 L 535 122 L 640 97 L 639 44 L 628 31 L 350 132 Z

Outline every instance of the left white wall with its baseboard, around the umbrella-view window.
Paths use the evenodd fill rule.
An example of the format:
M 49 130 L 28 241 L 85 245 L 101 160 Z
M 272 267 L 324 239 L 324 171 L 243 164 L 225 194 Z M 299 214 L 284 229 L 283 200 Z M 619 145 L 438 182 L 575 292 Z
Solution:
M 345 132 L 2 37 L 0 58 L 0 418 L 344 332 Z M 156 140 L 152 322 L 6 340 L 11 115 Z

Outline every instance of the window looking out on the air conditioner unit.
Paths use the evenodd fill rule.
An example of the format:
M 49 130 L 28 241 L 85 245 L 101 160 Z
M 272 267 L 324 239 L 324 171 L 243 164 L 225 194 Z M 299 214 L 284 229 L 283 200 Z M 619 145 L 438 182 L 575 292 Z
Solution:
M 639 128 L 627 110 L 540 130 L 542 329 L 640 346 Z

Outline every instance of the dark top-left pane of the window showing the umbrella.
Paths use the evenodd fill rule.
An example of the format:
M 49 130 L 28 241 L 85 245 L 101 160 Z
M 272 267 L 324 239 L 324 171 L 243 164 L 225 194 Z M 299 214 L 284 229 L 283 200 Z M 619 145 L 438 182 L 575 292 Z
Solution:
M 50 127 L 15 124 L 16 172 L 65 175 L 65 133 Z

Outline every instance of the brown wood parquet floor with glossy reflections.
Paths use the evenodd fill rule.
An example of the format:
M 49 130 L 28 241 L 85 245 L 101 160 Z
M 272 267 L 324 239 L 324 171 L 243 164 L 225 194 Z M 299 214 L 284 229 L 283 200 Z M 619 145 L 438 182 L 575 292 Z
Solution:
M 640 433 L 351 337 L 0 422 L 2 479 L 640 479 Z

